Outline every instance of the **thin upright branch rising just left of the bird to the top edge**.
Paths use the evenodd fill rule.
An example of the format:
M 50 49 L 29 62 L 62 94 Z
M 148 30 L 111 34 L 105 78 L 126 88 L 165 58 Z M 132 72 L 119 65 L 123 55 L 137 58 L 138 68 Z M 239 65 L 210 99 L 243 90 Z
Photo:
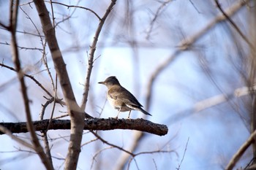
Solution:
M 81 109 L 84 111 L 86 109 L 86 103 L 87 103 L 87 98 L 89 94 L 89 86 L 90 86 L 90 78 L 91 78 L 91 71 L 94 63 L 94 53 L 96 50 L 97 42 L 99 39 L 99 34 L 102 31 L 102 27 L 105 23 L 105 20 L 108 18 L 108 15 L 110 14 L 111 10 L 113 9 L 114 5 L 116 4 L 116 0 L 112 0 L 108 9 L 105 12 L 105 15 L 99 20 L 99 25 L 97 28 L 97 31 L 95 32 L 94 35 L 94 41 L 91 44 L 91 49 L 89 53 L 89 61 L 88 61 L 88 69 L 86 73 L 86 83 L 83 89 L 83 99 L 82 99 L 82 104 L 81 104 Z

